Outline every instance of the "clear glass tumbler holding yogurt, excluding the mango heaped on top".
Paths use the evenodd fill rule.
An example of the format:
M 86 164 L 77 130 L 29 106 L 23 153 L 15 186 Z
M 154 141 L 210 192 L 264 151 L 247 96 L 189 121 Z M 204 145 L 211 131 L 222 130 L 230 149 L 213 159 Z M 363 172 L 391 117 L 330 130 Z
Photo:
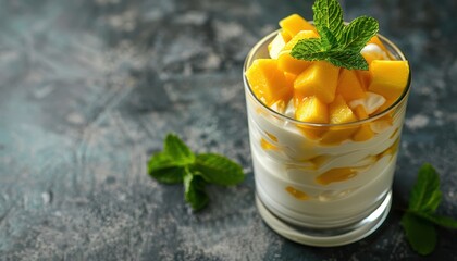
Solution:
M 268 45 L 276 34 L 252 48 L 244 73 L 254 60 L 269 58 Z M 396 60 L 406 60 L 395 45 L 378 37 Z M 305 245 L 341 246 L 383 223 L 392 203 L 410 78 L 409 74 L 403 95 L 383 112 L 332 125 L 277 113 L 256 98 L 244 76 L 256 203 L 273 231 Z M 326 138 L 317 138 L 325 133 Z M 355 138 L 356 133 L 361 138 Z

